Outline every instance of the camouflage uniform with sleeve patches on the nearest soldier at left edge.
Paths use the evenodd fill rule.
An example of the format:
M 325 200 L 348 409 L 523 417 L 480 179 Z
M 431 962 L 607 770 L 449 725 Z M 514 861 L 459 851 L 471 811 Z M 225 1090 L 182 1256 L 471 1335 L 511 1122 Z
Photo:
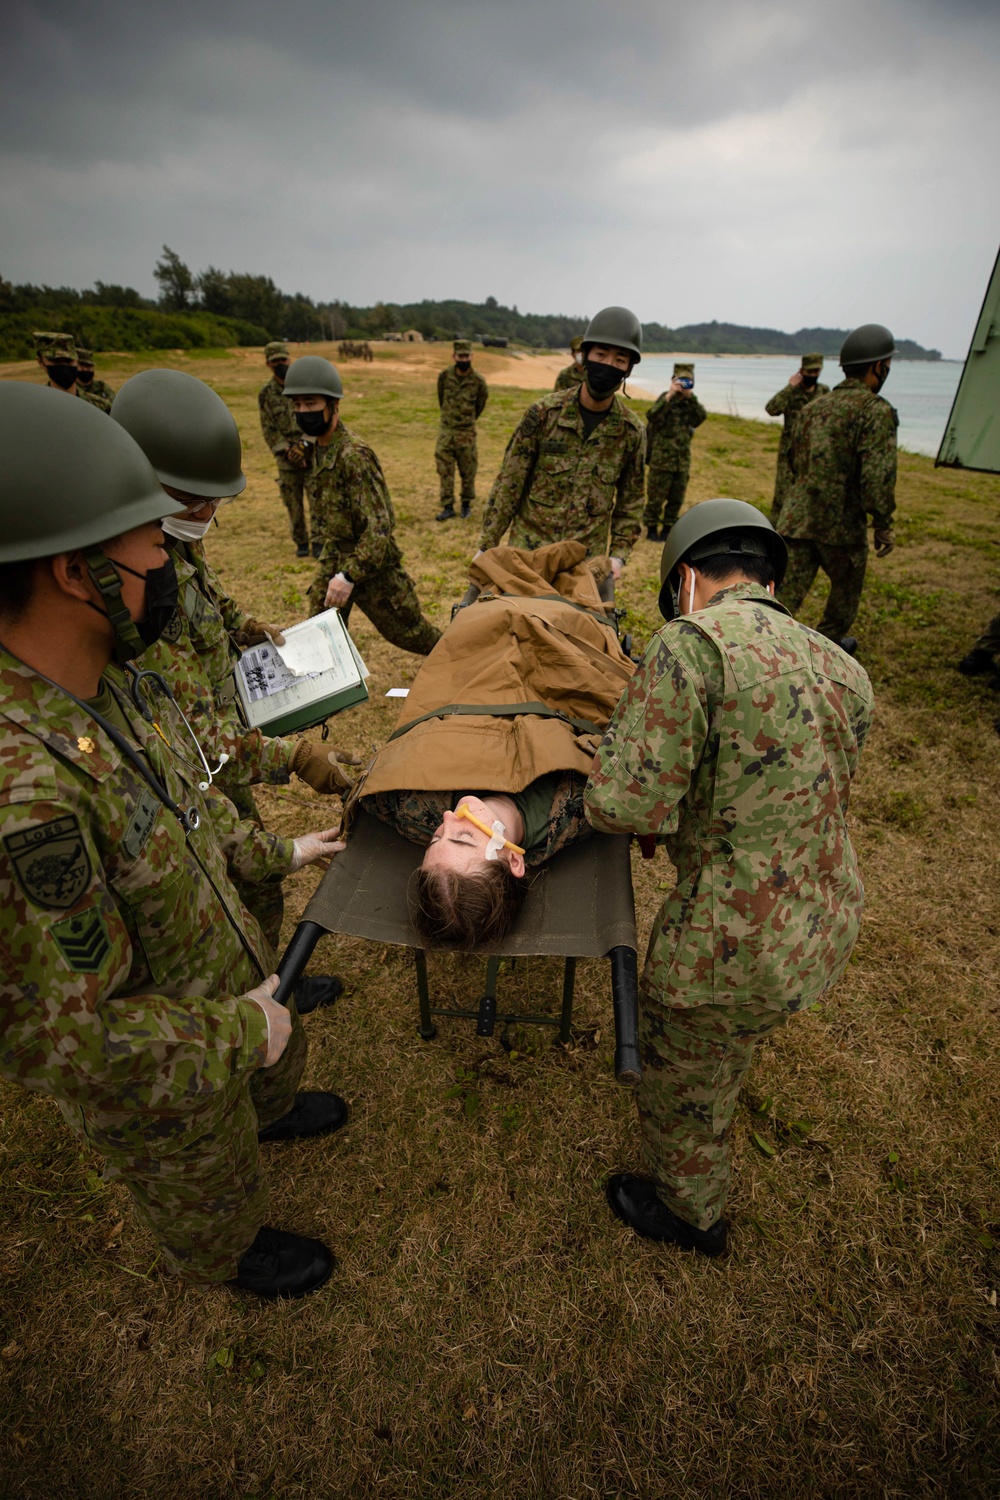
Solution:
M 256 1132 L 291 1108 L 306 1040 L 294 1016 L 264 1070 L 246 993 L 274 954 L 226 870 L 280 880 L 291 840 L 201 794 L 126 696 L 105 717 L 201 812 L 189 834 L 85 710 L 1 650 L 0 682 L 0 1072 L 55 1098 L 169 1270 L 229 1280 L 265 1218 Z M 183 744 L 169 708 L 162 723 Z

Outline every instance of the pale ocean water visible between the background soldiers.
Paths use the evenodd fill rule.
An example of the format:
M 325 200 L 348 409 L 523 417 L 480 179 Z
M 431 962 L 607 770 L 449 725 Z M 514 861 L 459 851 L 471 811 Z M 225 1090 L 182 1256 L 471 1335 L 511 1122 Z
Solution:
M 783 356 L 694 356 L 694 392 L 709 411 L 724 411 L 733 417 L 757 422 L 781 422 L 769 417 L 765 404 L 787 384 L 798 369 L 795 358 Z M 646 354 L 628 381 L 630 388 L 658 396 L 670 384 L 672 354 Z M 940 447 L 945 423 L 952 410 L 963 366 L 958 360 L 894 360 L 889 380 L 882 388 L 886 400 L 900 412 L 900 447 L 910 453 L 930 453 Z M 828 358 L 820 380 L 837 386 L 843 380 L 840 366 Z

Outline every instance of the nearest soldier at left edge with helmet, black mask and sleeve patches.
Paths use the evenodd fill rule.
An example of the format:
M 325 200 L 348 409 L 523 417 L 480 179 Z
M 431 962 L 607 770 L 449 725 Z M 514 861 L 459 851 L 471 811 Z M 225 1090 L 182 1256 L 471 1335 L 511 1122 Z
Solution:
M 258 1143 L 325 1134 L 346 1106 L 295 1092 L 306 1038 L 229 873 L 342 844 L 240 824 L 171 705 L 157 734 L 103 675 L 162 622 L 147 591 L 177 508 L 127 434 L 9 382 L 0 468 L 0 1072 L 57 1101 L 169 1272 L 301 1296 L 333 1257 L 264 1224 Z

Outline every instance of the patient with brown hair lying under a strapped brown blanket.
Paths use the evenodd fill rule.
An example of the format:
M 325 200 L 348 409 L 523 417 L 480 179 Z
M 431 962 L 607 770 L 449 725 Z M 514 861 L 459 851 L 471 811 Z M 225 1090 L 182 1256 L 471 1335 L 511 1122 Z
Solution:
M 577 542 L 492 548 L 346 808 L 426 844 L 414 924 L 429 946 L 499 942 L 529 872 L 591 830 L 583 786 L 633 672 Z

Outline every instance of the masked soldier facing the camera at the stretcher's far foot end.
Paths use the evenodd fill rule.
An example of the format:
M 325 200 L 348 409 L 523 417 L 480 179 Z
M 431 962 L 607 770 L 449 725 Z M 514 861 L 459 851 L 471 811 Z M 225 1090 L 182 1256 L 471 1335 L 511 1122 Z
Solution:
M 604 308 L 583 336 L 585 381 L 534 402 L 507 444 L 483 518 L 480 550 L 582 542 L 621 578 L 643 506 L 643 424 L 616 394 L 642 358 L 642 326 Z M 610 531 L 610 542 L 609 542 Z

